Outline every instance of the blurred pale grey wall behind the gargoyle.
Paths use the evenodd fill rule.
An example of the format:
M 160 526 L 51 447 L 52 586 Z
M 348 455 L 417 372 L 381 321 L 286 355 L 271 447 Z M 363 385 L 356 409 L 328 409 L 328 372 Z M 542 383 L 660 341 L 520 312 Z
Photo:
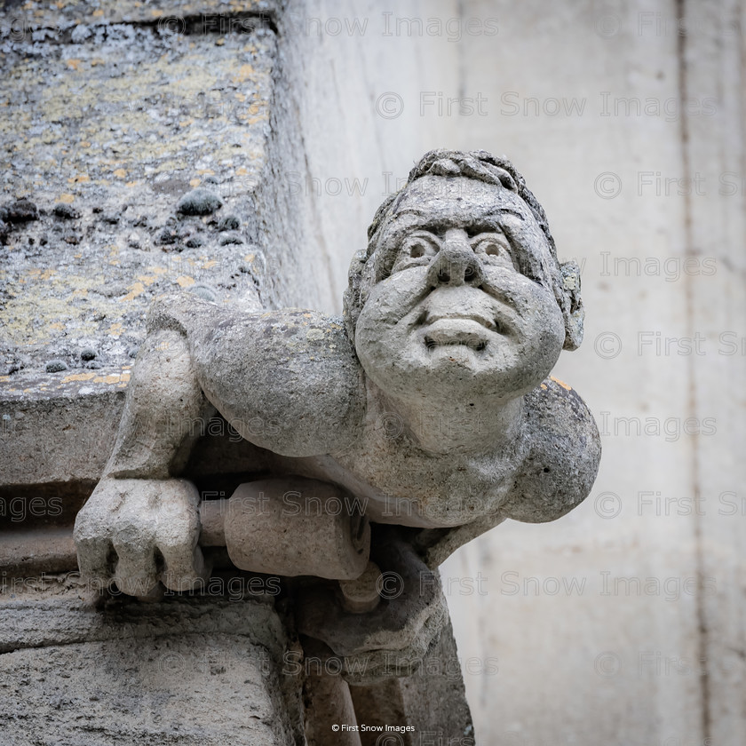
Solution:
M 293 7 L 326 310 L 433 147 L 511 158 L 583 269 L 591 496 L 442 568 L 480 743 L 746 742 L 742 3 Z

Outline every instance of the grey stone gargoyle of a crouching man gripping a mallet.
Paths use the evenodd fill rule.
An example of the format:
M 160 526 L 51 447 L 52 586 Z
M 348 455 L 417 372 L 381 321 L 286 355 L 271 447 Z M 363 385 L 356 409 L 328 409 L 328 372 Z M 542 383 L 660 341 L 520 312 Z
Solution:
M 506 518 L 555 520 L 588 495 L 599 433 L 549 377 L 583 337 L 579 270 L 559 263 L 512 163 L 425 155 L 377 210 L 344 306 L 337 319 L 155 301 L 75 522 L 83 575 L 132 595 L 193 589 L 201 545 L 222 544 L 245 570 L 326 578 L 298 595 L 298 629 L 348 663 L 362 655 L 370 679 L 410 671 L 437 636 L 445 605 L 424 573 Z M 215 410 L 271 473 L 201 501 L 182 474 L 191 425 Z M 348 509 L 309 507 L 331 498 Z M 401 589 L 376 593 L 379 573 Z

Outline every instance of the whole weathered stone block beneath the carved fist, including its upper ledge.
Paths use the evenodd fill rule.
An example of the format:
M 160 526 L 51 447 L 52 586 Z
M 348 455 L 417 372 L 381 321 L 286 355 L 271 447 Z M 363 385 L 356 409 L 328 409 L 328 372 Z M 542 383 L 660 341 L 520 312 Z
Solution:
M 102 600 L 77 573 L 3 580 L 4 744 L 301 738 L 299 683 L 280 673 L 289 643 L 271 596 Z

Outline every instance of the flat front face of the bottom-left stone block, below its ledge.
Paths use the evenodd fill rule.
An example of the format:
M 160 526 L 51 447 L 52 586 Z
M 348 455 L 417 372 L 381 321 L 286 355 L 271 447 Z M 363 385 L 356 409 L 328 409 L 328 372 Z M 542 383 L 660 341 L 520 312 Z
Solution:
M 284 746 L 290 728 L 262 655 L 233 635 L 204 634 L 0 655 L 3 742 Z

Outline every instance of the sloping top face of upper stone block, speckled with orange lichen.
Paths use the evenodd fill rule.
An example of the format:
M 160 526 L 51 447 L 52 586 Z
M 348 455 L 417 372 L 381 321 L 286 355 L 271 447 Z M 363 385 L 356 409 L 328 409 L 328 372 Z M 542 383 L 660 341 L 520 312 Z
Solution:
M 250 198 L 266 169 L 274 32 L 100 23 L 79 36 L 0 41 L 0 375 L 125 364 L 157 294 L 253 301 L 265 271 Z M 210 210 L 179 212 L 194 187 Z M 233 241 L 226 215 L 240 218 Z

